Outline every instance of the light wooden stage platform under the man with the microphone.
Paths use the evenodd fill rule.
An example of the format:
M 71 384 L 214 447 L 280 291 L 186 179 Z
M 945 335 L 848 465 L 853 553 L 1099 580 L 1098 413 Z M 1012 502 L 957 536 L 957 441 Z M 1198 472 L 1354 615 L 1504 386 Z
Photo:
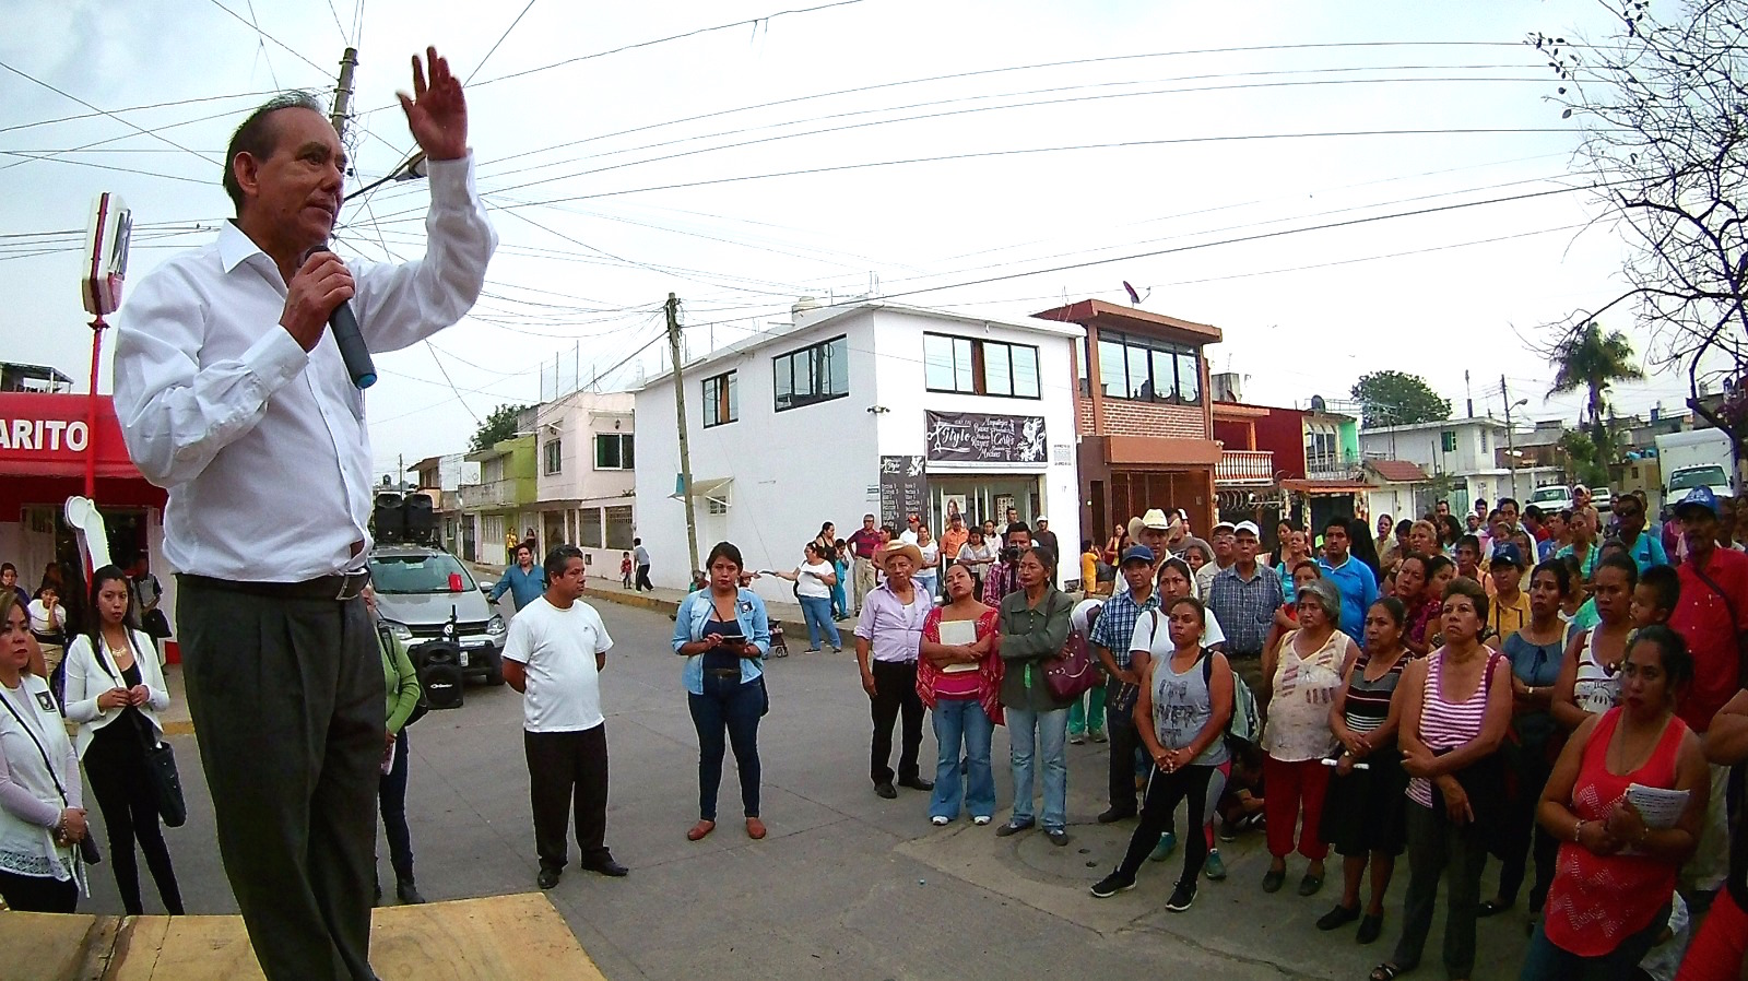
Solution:
M 386 906 L 371 927 L 383 981 L 594 981 L 601 972 L 538 892 Z M 253 981 L 238 916 L 0 913 L 5 981 Z

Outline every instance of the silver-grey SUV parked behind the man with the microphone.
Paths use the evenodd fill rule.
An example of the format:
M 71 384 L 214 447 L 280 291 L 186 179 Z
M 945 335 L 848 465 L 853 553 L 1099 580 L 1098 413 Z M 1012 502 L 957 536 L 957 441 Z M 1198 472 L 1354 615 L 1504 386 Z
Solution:
M 491 612 L 474 577 L 442 549 L 381 544 L 371 549 L 376 612 L 407 647 L 440 640 L 454 619 L 461 673 L 503 684 L 503 617 Z

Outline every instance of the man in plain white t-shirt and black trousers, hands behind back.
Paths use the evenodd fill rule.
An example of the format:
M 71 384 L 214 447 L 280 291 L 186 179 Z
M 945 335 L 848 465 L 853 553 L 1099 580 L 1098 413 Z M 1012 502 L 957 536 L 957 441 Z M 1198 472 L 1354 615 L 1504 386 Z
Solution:
M 577 801 L 579 866 L 603 876 L 626 867 L 607 850 L 607 719 L 601 670 L 614 638 L 582 602 L 587 582 L 582 549 L 558 546 L 545 560 L 547 591 L 510 621 L 503 642 L 503 680 L 523 692 L 523 748 L 528 797 L 535 811 L 540 888 L 558 885 L 568 862 L 565 831 Z

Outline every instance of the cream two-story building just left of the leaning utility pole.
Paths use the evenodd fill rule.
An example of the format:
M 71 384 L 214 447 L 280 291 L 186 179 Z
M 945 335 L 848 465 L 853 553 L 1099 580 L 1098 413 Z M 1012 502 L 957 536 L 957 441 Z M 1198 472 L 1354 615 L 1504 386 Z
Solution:
M 631 551 L 636 441 L 631 392 L 572 392 L 535 409 L 535 525 L 542 549 L 579 546 L 596 577 Z

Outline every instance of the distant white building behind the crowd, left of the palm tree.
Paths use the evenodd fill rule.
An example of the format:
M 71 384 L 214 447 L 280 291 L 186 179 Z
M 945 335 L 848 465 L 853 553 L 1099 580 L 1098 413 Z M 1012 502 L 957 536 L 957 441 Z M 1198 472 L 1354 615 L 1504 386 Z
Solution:
M 1505 423 L 1488 416 L 1367 428 L 1360 430 L 1360 453 L 1367 460 L 1418 463 L 1433 481 L 1451 484 L 1446 497 L 1451 511 L 1467 514 L 1475 500 L 1524 502 L 1538 483 L 1547 483 L 1545 467 L 1500 465 L 1516 439 L 1507 432 Z

